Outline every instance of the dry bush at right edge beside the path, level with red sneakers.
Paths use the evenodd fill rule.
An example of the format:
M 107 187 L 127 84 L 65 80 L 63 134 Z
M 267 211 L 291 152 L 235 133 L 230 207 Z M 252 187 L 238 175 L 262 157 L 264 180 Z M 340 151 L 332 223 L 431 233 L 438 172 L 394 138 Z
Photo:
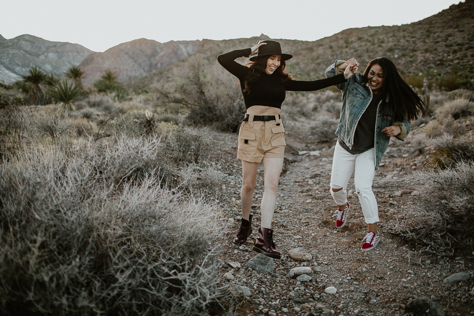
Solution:
M 474 242 L 474 165 L 460 162 L 446 170 L 413 173 L 419 195 L 399 221 L 402 236 L 438 255 L 471 252 Z

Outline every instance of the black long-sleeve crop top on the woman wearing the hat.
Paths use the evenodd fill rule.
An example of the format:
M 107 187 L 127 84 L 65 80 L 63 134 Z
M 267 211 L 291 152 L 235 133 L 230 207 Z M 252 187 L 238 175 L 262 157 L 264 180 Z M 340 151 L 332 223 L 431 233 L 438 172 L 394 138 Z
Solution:
M 245 77 L 250 69 L 237 63 L 236 59 L 248 57 L 251 52 L 251 48 L 237 49 L 217 57 L 219 64 L 239 79 L 242 91 L 245 89 Z M 345 81 L 344 74 L 339 74 L 315 81 L 287 80 L 286 83 L 282 83 L 276 79 L 276 76 L 263 72 L 260 74 L 260 78 L 252 84 L 250 92 L 242 92 L 242 94 L 247 109 L 253 105 L 281 109 L 281 104 L 286 97 L 285 91 L 316 91 Z

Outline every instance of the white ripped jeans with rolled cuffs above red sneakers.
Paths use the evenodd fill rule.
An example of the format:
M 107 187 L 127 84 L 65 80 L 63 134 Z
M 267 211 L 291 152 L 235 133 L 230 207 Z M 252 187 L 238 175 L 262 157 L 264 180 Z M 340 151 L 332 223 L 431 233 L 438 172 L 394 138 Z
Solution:
M 352 155 L 337 142 L 332 160 L 330 191 L 334 201 L 337 205 L 346 204 L 347 184 L 352 173 L 355 172 L 356 194 L 359 197 L 360 207 L 362 207 L 362 213 L 367 224 L 374 224 L 379 221 L 377 200 L 372 192 L 372 181 L 375 175 L 374 150 L 372 148 L 361 154 Z M 342 188 L 342 190 L 334 192 L 332 188 Z

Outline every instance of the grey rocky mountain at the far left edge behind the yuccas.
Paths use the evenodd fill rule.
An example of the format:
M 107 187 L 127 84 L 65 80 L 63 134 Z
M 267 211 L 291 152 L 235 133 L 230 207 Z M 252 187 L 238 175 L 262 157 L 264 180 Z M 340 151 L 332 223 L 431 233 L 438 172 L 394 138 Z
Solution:
M 33 66 L 62 76 L 67 67 L 79 65 L 90 53 L 90 49 L 79 44 L 43 40 L 32 35 L 11 40 L 0 36 L 0 81 L 20 80 Z

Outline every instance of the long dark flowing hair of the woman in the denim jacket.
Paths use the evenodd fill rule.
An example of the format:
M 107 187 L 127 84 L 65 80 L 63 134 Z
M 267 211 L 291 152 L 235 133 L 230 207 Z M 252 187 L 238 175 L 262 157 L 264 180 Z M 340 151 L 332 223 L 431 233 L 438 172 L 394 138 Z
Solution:
M 395 67 L 395 64 L 388 58 L 377 57 L 372 59 L 364 71 L 362 84 L 369 81 L 369 71 L 373 65 L 379 65 L 384 71 L 384 81 L 382 84 L 383 106 L 389 107 L 392 112 L 392 124 L 395 121 L 401 122 L 406 117 L 408 120 L 416 119 L 418 111 L 425 114 L 425 103 L 405 82 L 405 74 Z M 403 76 L 403 78 L 400 76 Z M 387 100 L 388 96 L 388 101 Z

